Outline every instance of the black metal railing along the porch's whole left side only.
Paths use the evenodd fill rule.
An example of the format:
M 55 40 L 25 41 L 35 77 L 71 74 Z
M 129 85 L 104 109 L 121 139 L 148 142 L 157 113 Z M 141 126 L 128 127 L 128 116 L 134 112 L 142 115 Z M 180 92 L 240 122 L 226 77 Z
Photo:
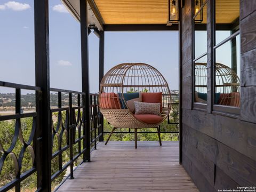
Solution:
M 14 84 L 8 82 L 0 82 L 0 86 L 9 87 L 15 89 L 15 114 L 0 116 L 0 122 L 3 121 L 15 121 L 14 135 L 11 145 L 8 149 L 4 149 L 3 143 L 0 140 L 0 175 L 3 170 L 3 166 L 6 157 L 11 156 L 13 159 L 13 165 L 15 169 L 15 178 L 9 180 L 4 186 L 0 188 L 0 191 L 7 191 L 15 187 L 15 191 L 21 190 L 21 182 L 28 178 L 31 174 L 37 174 L 37 180 L 40 180 L 42 176 L 42 131 L 43 127 L 38 124 L 37 112 L 21 114 L 21 89 L 35 91 L 36 111 L 40 106 L 42 91 L 40 87 L 27 86 L 21 84 Z M 90 150 L 97 148 L 97 142 L 102 136 L 102 115 L 98 106 L 98 95 L 90 94 L 90 127 L 86 127 L 85 118 L 85 106 L 81 105 L 81 97 L 85 95 L 83 92 L 50 89 L 51 92 L 58 93 L 58 106 L 52 106 L 50 109 L 51 114 L 51 164 L 52 174 L 51 181 L 53 182 L 60 174 L 63 174 L 69 169 L 67 178 L 74 179 L 73 172 L 75 166 L 81 164 L 79 158 L 85 155 L 86 150 L 86 129 L 90 129 Z M 63 103 L 63 95 L 68 94 L 68 105 Z M 76 102 L 75 102 L 76 100 Z M 28 141 L 23 139 L 21 119 L 33 118 L 31 124 L 31 132 L 29 133 Z M 39 130 L 41 129 L 41 130 Z M 18 141 L 22 143 L 21 150 L 18 153 L 14 153 L 13 149 Z M 29 149 L 32 166 L 29 170 L 22 173 L 22 160 L 26 149 Z M 56 166 L 58 165 L 58 166 Z M 53 167 L 55 167 L 53 169 Z M 56 168 L 57 167 L 57 168 Z M 10 171 L 10 174 L 13 170 Z M 63 175 L 62 175 L 63 176 Z M 0 179 L 1 180 L 1 179 Z M 41 187 L 37 185 L 37 191 L 40 191 Z

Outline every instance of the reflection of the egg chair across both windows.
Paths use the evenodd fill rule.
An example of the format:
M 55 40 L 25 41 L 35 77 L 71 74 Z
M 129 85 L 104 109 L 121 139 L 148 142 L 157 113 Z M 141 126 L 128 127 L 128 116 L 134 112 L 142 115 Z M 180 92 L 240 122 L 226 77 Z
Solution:
M 207 63 L 195 63 L 195 91 L 207 93 Z M 215 104 L 239 107 L 240 79 L 236 72 L 215 63 Z

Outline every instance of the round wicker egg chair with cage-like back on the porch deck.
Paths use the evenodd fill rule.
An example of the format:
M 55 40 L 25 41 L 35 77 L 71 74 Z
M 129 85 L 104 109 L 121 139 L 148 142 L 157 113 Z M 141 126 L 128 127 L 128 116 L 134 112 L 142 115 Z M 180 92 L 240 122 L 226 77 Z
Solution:
M 135 115 L 134 109 L 131 108 L 131 105 L 127 105 L 128 101 L 124 97 L 129 93 L 138 93 L 142 95 L 139 97 L 145 98 L 145 100 L 146 96 L 153 95 L 155 97 L 154 95 L 160 94 L 161 114 L 157 117 L 158 121 L 153 121 L 154 115 L 150 116 L 154 117 L 149 119 L 150 123 L 141 119 L 143 115 Z M 137 148 L 137 129 L 156 128 L 159 144 L 162 145 L 159 125 L 170 113 L 171 94 L 165 78 L 154 67 L 145 63 L 122 63 L 111 68 L 102 78 L 100 84 L 99 107 L 103 116 L 114 127 L 105 145 L 107 145 L 111 134 L 118 128 L 134 129 L 135 148 Z

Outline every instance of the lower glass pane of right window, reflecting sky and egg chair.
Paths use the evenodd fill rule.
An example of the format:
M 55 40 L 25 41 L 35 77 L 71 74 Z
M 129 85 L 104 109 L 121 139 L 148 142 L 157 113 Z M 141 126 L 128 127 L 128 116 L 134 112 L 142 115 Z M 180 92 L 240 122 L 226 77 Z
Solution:
M 215 104 L 240 106 L 240 36 L 215 50 Z

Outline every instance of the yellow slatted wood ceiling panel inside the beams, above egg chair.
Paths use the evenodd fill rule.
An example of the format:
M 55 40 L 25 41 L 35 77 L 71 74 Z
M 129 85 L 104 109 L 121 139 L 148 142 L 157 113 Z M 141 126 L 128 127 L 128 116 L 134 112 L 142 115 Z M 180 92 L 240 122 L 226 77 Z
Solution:
M 166 24 L 168 0 L 94 0 L 106 24 Z

